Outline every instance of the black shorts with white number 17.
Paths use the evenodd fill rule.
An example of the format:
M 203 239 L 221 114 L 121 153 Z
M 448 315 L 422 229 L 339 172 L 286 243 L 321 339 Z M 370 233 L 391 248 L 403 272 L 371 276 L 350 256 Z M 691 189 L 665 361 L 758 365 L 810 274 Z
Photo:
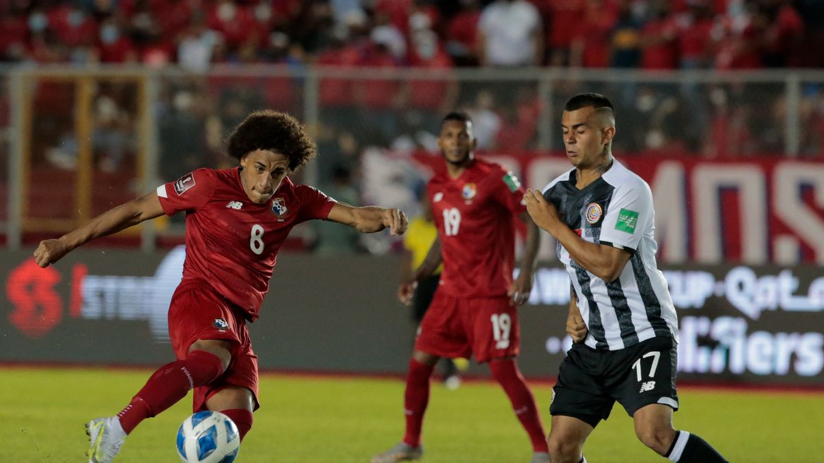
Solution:
M 595 427 L 609 418 L 616 400 L 630 416 L 650 404 L 677 410 L 677 359 L 672 338 L 647 339 L 620 350 L 573 344 L 559 368 L 550 414 L 572 416 Z

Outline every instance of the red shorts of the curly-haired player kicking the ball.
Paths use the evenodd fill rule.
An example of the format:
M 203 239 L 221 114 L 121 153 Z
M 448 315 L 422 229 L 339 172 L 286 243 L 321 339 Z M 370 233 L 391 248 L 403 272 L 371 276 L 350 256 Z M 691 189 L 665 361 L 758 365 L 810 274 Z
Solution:
M 171 297 L 169 306 L 169 338 L 175 356 L 182 360 L 198 339 L 227 339 L 232 341 L 232 361 L 215 381 L 194 388 L 192 409 L 206 409 L 206 400 L 227 386 L 246 387 L 258 402 L 257 356 L 252 352 L 249 330 L 243 311 L 225 297 L 218 295 L 205 283 L 180 285 Z

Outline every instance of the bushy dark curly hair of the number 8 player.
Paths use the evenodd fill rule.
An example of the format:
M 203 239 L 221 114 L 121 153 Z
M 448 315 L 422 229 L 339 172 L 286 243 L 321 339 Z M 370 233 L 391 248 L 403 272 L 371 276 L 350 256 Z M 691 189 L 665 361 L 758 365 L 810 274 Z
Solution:
M 227 138 L 229 157 L 240 161 L 259 149 L 283 154 L 289 171 L 306 166 L 317 155 L 315 142 L 293 116 L 274 110 L 254 111 Z

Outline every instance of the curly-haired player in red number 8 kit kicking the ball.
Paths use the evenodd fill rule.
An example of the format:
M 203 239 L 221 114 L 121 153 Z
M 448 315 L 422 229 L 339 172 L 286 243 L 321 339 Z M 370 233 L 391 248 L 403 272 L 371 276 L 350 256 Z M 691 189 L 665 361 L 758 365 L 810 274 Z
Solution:
M 41 241 L 35 250 L 37 264 L 46 267 L 95 238 L 186 211 L 183 280 L 169 307 L 177 360 L 160 367 L 119 414 L 87 423 L 90 462 L 111 461 L 138 423 L 190 389 L 194 411 L 227 414 L 242 439 L 260 406 L 257 356 L 246 322 L 259 315 L 278 250 L 292 227 L 323 219 L 365 233 L 405 232 L 406 217 L 398 209 L 355 208 L 289 179 L 316 155 L 315 143 L 290 115 L 250 114 L 230 136 L 228 154 L 241 166 L 191 172 L 56 240 Z

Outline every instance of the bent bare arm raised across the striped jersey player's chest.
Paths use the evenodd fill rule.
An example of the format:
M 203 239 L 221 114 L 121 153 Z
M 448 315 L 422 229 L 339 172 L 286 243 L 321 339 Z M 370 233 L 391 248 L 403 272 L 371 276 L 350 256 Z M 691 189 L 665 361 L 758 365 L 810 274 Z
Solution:
M 615 281 L 630 260 L 630 251 L 613 246 L 597 245 L 578 236 L 561 221 L 555 206 L 544 199 L 540 191 L 527 189 L 524 194 L 527 212 L 538 227 L 555 236 L 575 262 L 607 283 Z

